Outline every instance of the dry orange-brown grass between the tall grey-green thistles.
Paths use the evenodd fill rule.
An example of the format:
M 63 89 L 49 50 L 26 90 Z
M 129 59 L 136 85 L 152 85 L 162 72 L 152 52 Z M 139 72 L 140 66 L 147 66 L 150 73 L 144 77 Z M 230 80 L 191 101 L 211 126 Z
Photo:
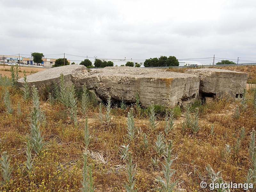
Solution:
M 0 93 L 3 92 L 0 87 Z M 82 153 L 84 150 L 84 121 L 78 113 L 78 125 L 74 126 L 65 112 L 65 107 L 56 103 L 53 107 L 41 100 L 47 124 L 41 124 L 44 134 L 45 150 L 41 156 L 33 154 L 33 174 L 28 176 L 24 170 L 26 161 L 25 136 L 29 133 L 29 113 L 31 101 L 22 99 L 21 92 L 8 88 L 11 95 L 13 114 L 6 114 L 3 98 L 0 100 L 0 153 L 8 151 L 11 156 L 12 180 L 9 191 L 79 191 L 82 187 Z M 165 138 L 172 140 L 175 159 L 172 168 L 176 173 L 172 180 L 178 180 L 176 188 L 186 191 L 205 191 L 200 188 L 202 179 L 208 179 L 205 165 L 210 164 L 215 171 L 223 170 L 223 179 L 237 183 L 244 182 L 249 169 L 248 143 L 250 132 L 255 127 L 255 110 L 252 108 L 252 92 L 248 94 L 248 108 L 238 119 L 233 117 L 237 100 L 227 98 L 214 100 L 211 105 L 194 105 L 199 108 L 201 130 L 193 134 L 191 130 L 181 131 L 184 116 L 178 117 L 175 127 Z M 22 115 L 17 116 L 17 103 L 20 102 Z M 88 109 L 89 132 L 92 142 L 89 144 L 89 163 L 92 163 L 95 191 L 124 191 L 126 181 L 125 164 L 120 160 L 119 147 L 130 141 L 126 137 L 126 114 L 129 109 L 112 109 L 112 124 L 107 127 L 98 120 L 98 107 Z M 135 139 L 130 143 L 133 161 L 136 163 L 136 187 L 139 191 L 155 191 L 158 185 L 155 177 L 161 172 L 153 169 L 151 157 L 157 156 L 153 146 L 159 132 L 164 132 L 164 122 L 160 121 L 155 131 L 151 131 L 145 118 L 145 111 L 135 110 L 135 126 L 138 127 Z M 184 112 L 183 112 L 184 113 Z M 164 117 L 160 116 L 159 120 Z M 211 134 L 211 125 L 214 132 Z M 223 156 L 225 144 L 233 147 L 241 127 L 245 127 L 245 137 L 237 156 Z M 142 133 L 149 133 L 148 150 L 144 150 Z M 164 162 L 163 158 L 160 158 Z M 0 176 L 0 180 L 2 177 Z M 5 191 L 0 188 L 0 191 Z

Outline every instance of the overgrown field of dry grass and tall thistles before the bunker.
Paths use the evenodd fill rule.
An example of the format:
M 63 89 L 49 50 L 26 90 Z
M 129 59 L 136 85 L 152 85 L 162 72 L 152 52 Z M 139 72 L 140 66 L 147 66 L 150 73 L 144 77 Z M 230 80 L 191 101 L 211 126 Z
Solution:
M 10 73 L 0 77 L 0 191 L 209 191 L 201 181 L 256 188 L 256 89 L 143 109 L 139 95 L 127 106 L 63 84 L 29 92 L 17 86 L 18 69 Z

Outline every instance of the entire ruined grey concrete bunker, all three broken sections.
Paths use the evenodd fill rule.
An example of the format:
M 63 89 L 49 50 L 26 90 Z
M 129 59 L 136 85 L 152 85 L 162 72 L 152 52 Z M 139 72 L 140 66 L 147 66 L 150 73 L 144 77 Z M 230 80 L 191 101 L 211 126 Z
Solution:
M 175 73 L 162 69 L 134 67 L 106 67 L 88 69 L 83 65 L 68 65 L 50 68 L 27 76 L 28 85 L 43 92 L 52 87 L 53 82 L 75 85 L 81 90 L 84 85 L 100 100 L 135 103 L 139 94 L 142 107 L 151 101 L 156 105 L 173 107 L 193 102 L 196 99 L 230 95 L 235 98 L 246 87 L 247 73 L 216 68 L 188 69 L 185 73 Z M 23 87 L 23 78 L 18 80 Z

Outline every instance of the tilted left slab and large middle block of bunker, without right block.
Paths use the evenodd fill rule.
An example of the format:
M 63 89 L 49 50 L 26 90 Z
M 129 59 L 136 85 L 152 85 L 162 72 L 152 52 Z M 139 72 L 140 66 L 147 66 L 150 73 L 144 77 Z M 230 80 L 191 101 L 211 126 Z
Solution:
M 199 78 L 195 75 L 132 67 L 106 67 L 88 72 L 82 65 L 69 65 L 29 75 L 28 84 L 41 91 L 47 85 L 52 86 L 53 81 L 59 83 L 61 73 L 66 85 L 75 84 L 79 90 L 86 84 L 103 100 L 110 96 L 119 101 L 135 102 L 138 92 L 143 107 L 148 107 L 151 101 L 174 106 L 187 98 L 197 98 L 199 92 Z M 18 83 L 22 86 L 23 78 Z

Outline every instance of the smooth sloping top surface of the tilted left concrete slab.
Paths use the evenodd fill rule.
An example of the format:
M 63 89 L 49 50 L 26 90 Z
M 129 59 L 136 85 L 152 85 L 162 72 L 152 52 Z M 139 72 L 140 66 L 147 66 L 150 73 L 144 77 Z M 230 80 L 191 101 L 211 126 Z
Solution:
M 54 79 L 60 77 L 60 74 L 64 76 L 68 74 L 76 75 L 76 74 L 88 74 L 87 68 L 84 65 L 66 65 L 61 67 L 50 68 L 44 71 L 40 71 L 31 75 L 27 76 L 28 82 L 35 82 L 35 81 L 44 81 L 48 79 Z M 18 82 L 23 83 L 23 78 L 20 78 Z

